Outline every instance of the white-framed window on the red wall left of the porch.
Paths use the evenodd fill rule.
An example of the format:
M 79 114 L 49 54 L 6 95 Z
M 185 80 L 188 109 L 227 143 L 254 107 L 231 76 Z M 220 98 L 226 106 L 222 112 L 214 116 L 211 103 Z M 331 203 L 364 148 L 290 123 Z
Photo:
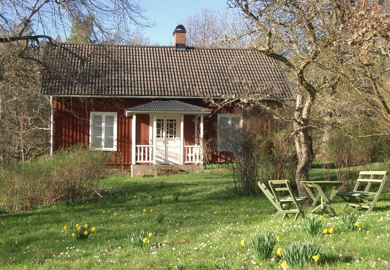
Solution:
M 91 112 L 89 118 L 91 150 L 117 151 L 117 113 Z

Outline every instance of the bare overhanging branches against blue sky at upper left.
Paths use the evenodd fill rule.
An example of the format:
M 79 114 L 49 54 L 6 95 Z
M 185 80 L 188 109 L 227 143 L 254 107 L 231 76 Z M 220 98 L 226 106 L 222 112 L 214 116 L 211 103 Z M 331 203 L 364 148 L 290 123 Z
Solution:
M 0 43 L 39 39 L 53 40 L 51 33 L 64 33 L 72 21 L 89 18 L 96 40 L 115 33 L 128 34 L 129 25 L 147 27 L 138 1 L 133 0 L 4 0 L 0 2 Z

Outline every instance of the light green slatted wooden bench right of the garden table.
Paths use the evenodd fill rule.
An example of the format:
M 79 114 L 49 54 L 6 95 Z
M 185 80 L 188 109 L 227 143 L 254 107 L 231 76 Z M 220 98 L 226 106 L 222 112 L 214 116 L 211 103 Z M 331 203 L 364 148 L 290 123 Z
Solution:
M 355 208 L 354 212 L 360 208 L 365 208 L 368 209 L 366 214 L 370 213 L 381 195 L 386 179 L 387 171 L 361 171 L 359 178 L 356 180 L 355 188 L 351 192 L 336 193 L 346 202 L 343 210 L 346 210 L 348 206 L 352 206 Z M 372 191 L 372 183 L 379 183 L 378 191 Z

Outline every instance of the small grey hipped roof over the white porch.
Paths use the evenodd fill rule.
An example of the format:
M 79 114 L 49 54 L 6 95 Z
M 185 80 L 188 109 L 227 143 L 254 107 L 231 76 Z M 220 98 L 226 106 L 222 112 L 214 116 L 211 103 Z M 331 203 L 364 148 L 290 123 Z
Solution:
M 152 101 L 126 109 L 128 112 L 181 111 L 181 112 L 211 112 L 211 110 L 176 100 Z

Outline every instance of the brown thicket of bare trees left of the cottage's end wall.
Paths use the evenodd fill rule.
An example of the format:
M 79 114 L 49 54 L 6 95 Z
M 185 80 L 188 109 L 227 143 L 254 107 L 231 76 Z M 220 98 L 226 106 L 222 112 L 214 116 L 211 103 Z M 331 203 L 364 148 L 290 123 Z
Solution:
M 0 165 L 27 162 L 49 148 L 49 102 L 37 91 L 40 69 L 35 61 L 18 58 L 21 48 L 0 44 Z

